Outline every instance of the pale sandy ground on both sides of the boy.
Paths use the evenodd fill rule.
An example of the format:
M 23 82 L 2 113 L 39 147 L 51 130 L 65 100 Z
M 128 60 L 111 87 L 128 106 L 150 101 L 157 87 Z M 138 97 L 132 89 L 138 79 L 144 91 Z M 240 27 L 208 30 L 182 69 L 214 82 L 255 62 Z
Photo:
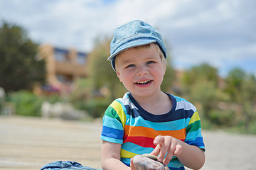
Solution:
M 101 123 L 0 117 L 0 169 L 40 169 L 70 160 L 100 168 Z M 203 169 L 256 169 L 256 136 L 203 131 Z

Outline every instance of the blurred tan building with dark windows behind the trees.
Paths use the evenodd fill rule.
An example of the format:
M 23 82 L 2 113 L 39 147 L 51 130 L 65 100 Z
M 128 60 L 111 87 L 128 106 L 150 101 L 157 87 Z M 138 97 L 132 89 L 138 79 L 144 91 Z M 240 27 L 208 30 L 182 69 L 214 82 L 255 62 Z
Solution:
M 39 57 L 46 60 L 47 83 L 43 91 L 68 92 L 76 79 L 87 77 L 87 53 L 74 48 L 63 49 L 51 45 L 39 48 Z

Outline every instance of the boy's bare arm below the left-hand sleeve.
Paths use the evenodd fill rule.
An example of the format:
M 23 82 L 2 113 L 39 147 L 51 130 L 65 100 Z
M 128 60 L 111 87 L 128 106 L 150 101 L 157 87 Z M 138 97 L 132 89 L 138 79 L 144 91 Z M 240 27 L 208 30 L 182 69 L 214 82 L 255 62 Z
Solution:
M 104 170 L 131 170 L 120 161 L 121 144 L 102 140 L 102 169 Z

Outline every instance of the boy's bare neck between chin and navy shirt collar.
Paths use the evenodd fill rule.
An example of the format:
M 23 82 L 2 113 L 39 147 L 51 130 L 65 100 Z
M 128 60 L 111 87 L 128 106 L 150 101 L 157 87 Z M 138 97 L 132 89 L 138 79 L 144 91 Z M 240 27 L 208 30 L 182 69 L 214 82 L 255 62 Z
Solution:
M 172 108 L 171 98 L 165 94 L 163 91 L 151 97 L 139 97 L 132 95 L 135 101 L 141 106 L 145 111 L 154 114 L 161 115 L 169 113 Z

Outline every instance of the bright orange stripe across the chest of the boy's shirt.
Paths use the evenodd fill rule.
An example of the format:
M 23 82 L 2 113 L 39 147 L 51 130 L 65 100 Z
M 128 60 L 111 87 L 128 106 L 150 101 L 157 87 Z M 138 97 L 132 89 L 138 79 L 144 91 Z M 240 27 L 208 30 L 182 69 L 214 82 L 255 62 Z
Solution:
M 129 126 L 125 125 L 124 134 L 131 137 L 150 137 L 155 138 L 157 135 L 175 137 L 178 140 L 183 140 L 186 137 L 186 130 L 154 130 L 151 128 L 145 128 L 142 126 Z

